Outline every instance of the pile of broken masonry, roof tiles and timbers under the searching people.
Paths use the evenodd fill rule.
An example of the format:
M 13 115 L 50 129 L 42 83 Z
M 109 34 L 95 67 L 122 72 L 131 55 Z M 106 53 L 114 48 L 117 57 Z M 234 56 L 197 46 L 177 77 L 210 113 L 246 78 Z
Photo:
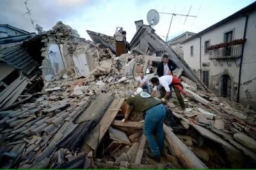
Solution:
M 173 94 L 168 107 L 180 131 L 164 125 L 166 154 L 156 164 L 147 157 L 142 113 L 132 113 L 126 124 L 120 121 L 125 97 L 136 89 L 134 78 L 148 56 L 115 57 L 100 44 L 72 38 L 70 52 L 93 53 L 94 69 L 87 77 L 63 71 L 45 83 L 39 97 L 0 111 L 1 168 L 255 168 L 255 112 L 205 92 L 182 71 L 177 76 L 186 111 Z

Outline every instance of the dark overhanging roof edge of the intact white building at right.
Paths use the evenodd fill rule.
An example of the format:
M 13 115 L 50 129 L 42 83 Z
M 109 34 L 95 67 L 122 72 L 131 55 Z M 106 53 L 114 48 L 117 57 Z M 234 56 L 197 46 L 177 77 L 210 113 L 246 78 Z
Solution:
M 203 31 L 198 32 L 194 36 L 191 36 L 191 38 L 184 40 L 182 43 L 186 43 L 186 42 L 190 41 L 191 39 L 194 39 L 194 38 L 204 34 L 205 32 L 211 31 L 212 29 L 215 29 L 216 27 L 229 22 L 230 20 L 233 20 L 237 17 L 242 17 L 244 14 L 248 13 L 249 11 L 255 10 L 255 9 L 256 9 L 256 1 L 248 6 L 244 7 L 243 9 L 237 11 L 236 13 L 230 15 L 229 17 L 221 20 L 220 22 L 217 22 L 216 24 L 211 25 L 211 27 L 208 27 L 207 29 L 204 29 Z

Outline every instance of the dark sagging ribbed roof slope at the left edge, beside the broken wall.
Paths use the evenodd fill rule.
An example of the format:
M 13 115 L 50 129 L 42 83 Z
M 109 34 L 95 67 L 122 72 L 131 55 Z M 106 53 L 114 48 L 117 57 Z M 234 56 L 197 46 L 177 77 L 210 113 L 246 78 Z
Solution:
M 27 48 L 21 45 L 0 46 L 0 60 L 26 74 L 38 66 L 38 62 L 32 59 Z

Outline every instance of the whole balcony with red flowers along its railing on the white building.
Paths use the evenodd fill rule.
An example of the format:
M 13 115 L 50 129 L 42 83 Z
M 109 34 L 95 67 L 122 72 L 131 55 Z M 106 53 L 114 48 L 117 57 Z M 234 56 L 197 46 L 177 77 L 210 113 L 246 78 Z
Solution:
M 220 43 L 209 46 L 206 50 L 209 52 L 209 59 L 236 59 L 241 57 L 244 40 L 236 39 L 227 43 Z

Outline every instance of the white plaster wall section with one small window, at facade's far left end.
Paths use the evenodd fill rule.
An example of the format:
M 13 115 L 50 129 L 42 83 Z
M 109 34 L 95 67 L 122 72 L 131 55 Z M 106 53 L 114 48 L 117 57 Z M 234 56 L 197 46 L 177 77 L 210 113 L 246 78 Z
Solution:
M 188 63 L 191 69 L 200 69 L 200 38 L 194 38 L 191 41 L 184 43 L 184 60 Z M 190 56 L 190 46 L 194 46 L 194 55 Z

